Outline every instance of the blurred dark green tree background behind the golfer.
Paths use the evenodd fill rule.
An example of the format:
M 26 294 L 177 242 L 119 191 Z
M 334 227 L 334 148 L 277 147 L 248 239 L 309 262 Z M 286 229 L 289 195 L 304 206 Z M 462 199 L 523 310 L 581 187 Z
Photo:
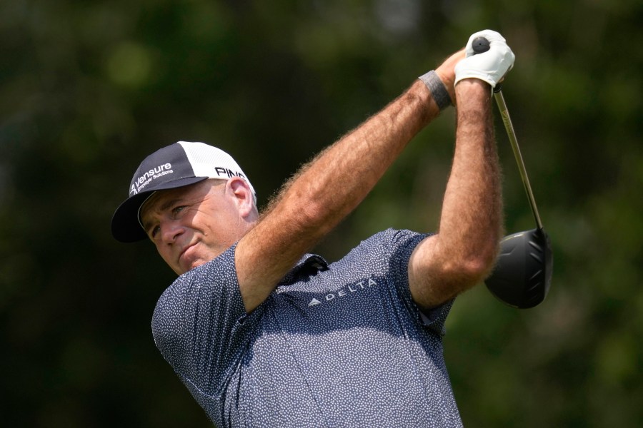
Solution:
M 642 426 L 642 21 L 639 0 L 0 2 L 3 426 L 209 426 L 151 339 L 174 274 L 109 232 L 141 158 L 213 143 L 264 204 L 484 28 L 517 54 L 504 94 L 554 277 L 531 310 L 484 285 L 457 300 L 444 343 L 464 424 Z M 533 220 L 497 122 L 512 233 Z M 451 110 L 316 252 L 433 230 L 453 133 Z

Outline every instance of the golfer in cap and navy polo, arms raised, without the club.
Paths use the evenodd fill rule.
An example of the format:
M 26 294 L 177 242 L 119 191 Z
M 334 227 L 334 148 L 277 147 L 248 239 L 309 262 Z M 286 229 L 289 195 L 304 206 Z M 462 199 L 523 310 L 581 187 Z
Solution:
M 484 54 L 473 54 L 477 36 L 490 42 Z M 144 159 L 112 233 L 149 238 L 179 275 L 154 310 L 154 341 L 217 427 L 462 425 L 442 335 L 454 297 L 496 260 L 492 87 L 513 61 L 500 34 L 472 35 L 301 168 L 263 213 L 218 148 L 179 141 Z M 452 104 L 437 233 L 384 230 L 334 263 L 308 254 Z

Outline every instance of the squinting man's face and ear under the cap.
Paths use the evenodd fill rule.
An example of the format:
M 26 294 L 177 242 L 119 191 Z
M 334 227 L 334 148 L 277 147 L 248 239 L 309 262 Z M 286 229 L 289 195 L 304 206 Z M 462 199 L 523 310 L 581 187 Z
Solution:
M 161 258 L 181 275 L 227 250 L 246 232 L 225 180 L 159 190 L 141 208 L 141 223 Z

